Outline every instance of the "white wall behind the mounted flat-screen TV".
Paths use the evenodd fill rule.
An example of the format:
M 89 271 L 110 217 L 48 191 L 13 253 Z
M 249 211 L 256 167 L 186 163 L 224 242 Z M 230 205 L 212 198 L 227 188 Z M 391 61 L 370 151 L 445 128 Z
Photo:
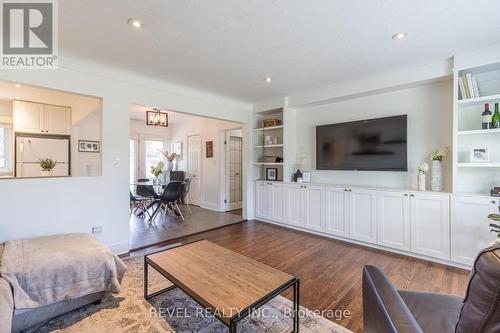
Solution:
M 416 167 L 432 150 L 452 145 L 452 81 L 348 99 L 297 111 L 297 156 L 306 154 L 304 168 L 314 170 L 317 125 L 408 115 L 408 172 L 325 171 L 312 172 L 313 182 L 416 188 Z M 451 190 L 451 155 L 444 163 L 444 189 Z M 429 178 L 429 177 L 428 177 Z

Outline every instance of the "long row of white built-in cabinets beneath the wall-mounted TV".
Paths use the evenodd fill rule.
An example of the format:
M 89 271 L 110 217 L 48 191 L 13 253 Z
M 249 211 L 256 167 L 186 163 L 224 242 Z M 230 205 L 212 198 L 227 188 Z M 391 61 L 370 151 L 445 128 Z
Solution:
M 259 219 L 469 266 L 495 239 L 487 217 L 498 204 L 449 193 L 256 182 Z

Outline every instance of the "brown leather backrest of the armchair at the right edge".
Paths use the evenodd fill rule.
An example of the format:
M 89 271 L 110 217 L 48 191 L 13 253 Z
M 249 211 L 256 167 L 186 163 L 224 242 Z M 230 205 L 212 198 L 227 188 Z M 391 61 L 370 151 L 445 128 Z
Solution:
M 500 244 L 479 253 L 467 287 L 457 333 L 500 332 Z

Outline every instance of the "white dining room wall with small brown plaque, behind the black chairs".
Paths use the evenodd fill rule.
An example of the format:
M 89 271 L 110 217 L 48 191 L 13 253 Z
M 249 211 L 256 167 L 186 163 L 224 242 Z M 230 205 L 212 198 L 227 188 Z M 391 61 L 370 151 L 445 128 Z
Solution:
M 200 134 L 202 165 L 201 165 L 201 206 L 212 210 L 221 210 L 221 188 L 224 186 L 223 174 L 223 136 L 222 131 L 227 129 L 241 128 L 241 123 L 228 122 L 223 120 L 185 117 L 182 121 L 175 122 L 170 126 L 170 142 L 182 142 L 183 158 L 178 163 L 179 170 L 187 170 L 187 136 L 190 134 Z M 214 142 L 214 157 L 206 158 L 205 143 Z M 222 199 L 223 200 L 223 199 Z

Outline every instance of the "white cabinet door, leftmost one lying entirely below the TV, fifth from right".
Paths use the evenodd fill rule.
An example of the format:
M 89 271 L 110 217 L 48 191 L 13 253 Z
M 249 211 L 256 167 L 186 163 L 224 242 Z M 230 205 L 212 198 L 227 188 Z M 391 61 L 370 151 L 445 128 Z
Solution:
M 349 236 L 348 218 L 349 195 L 346 188 L 326 187 L 325 189 L 325 231 L 337 235 Z

